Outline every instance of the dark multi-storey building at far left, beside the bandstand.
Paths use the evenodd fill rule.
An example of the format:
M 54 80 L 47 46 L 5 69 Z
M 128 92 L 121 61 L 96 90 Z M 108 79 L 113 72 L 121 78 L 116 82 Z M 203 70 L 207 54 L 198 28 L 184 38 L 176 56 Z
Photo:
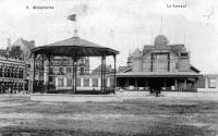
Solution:
M 0 50 L 0 92 L 28 90 L 31 73 L 31 49 L 35 41 L 19 38 L 13 45 L 8 38 L 7 49 Z

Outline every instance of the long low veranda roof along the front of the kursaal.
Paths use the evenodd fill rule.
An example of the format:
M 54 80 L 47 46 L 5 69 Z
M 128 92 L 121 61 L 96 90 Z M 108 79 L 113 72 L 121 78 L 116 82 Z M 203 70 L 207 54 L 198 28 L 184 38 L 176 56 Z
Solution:
M 118 73 L 117 77 L 199 77 L 201 74 L 192 72 L 126 72 Z

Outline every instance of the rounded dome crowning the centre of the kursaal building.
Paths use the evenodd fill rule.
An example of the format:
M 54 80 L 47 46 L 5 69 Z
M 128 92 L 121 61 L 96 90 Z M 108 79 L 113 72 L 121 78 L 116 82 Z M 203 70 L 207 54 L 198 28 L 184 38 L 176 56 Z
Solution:
M 158 36 L 155 38 L 155 47 L 156 47 L 156 49 L 162 49 L 162 48 L 165 48 L 168 44 L 169 44 L 169 41 L 168 41 L 167 37 L 164 36 L 164 35 L 158 35 Z

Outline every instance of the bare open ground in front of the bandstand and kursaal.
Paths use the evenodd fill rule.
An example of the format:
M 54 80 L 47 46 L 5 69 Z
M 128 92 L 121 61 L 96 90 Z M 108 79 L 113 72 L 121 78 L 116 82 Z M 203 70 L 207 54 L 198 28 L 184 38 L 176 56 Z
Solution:
M 0 136 L 216 136 L 218 99 L 36 102 L 0 96 Z

